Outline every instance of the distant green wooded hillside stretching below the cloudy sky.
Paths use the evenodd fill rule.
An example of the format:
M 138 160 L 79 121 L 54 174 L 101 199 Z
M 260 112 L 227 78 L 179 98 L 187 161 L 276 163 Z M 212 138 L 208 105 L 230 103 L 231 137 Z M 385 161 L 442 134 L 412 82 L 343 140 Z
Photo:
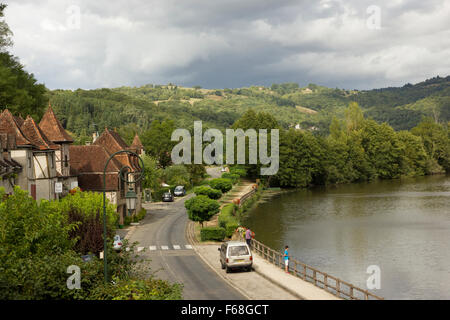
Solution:
M 173 84 L 95 90 L 53 90 L 48 99 L 63 125 L 82 143 L 104 127 L 117 128 L 126 139 L 143 133 L 154 120 L 173 120 L 191 128 L 194 120 L 225 129 L 249 109 L 273 115 L 283 128 L 297 127 L 326 136 L 334 116 L 358 102 L 366 118 L 409 130 L 422 117 L 450 121 L 450 76 L 401 88 L 367 91 L 331 89 L 296 83 L 237 89 L 184 88 Z

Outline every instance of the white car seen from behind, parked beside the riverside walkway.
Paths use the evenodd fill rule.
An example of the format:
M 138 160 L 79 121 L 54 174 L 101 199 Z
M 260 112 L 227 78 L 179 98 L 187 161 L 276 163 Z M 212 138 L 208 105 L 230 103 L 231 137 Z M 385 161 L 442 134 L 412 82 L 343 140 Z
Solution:
M 252 251 L 246 242 L 228 241 L 223 243 L 218 250 L 220 251 L 220 264 L 227 273 L 232 269 L 252 270 Z

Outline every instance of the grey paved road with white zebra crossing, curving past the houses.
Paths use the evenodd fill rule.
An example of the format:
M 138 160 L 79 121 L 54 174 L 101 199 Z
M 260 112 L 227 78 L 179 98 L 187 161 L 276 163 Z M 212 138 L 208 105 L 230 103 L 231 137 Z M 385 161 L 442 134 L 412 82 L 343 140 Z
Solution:
M 191 195 L 192 196 L 192 195 Z M 188 221 L 184 201 L 155 203 L 141 224 L 131 233 L 130 242 L 138 241 L 140 255 L 150 258 L 155 276 L 184 285 L 186 300 L 243 300 L 197 256 L 185 236 Z M 145 248 L 145 249 L 144 249 Z

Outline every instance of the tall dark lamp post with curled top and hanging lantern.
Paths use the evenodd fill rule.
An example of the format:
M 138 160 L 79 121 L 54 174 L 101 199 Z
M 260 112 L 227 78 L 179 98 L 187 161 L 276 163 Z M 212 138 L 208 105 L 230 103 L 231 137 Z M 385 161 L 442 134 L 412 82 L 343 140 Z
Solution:
M 128 180 L 128 173 L 134 173 L 132 169 L 129 166 L 123 166 L 120 169 L 119 172 L 119 178 L 123 182 L 127 183 L 128 185 L 136 184 L 139 182 L 143 176 L 144 176 L 144 161 L 142 161 L 141 157 L 135 152 L 129 151 L 129 150 L 120 150 L 115 153 L 113 153 L 108 161 L 106 161 L 105 169 L 103 170 L 103 273 L 104 273 L 104 280 L 105 284 L 108 283 L 108 254 L 107 254 L 107 235 L 106 235 L 106 169 L 108 168 L 108 164 L 110 161 L 118 154 L 130 154 L 138 159 L 138 165 L 139 165 L 139 173 L 140 175 L 136 178 L 134 177 L 133 181 Z M 125 172 L 127 172 L 127 175 L 125 176 Z M 136 192 L 134 192 L 133 189 L 129 189 L 126 196 L 126 204 L 129 212 L 136 209 L 136 199 L 137 195 Z

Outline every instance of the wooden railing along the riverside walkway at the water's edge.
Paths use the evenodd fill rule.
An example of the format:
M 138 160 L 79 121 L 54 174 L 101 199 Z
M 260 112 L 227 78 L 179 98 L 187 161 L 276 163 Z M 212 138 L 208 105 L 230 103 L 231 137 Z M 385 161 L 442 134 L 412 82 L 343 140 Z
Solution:
M 261 242 L 252 239 L 252 251 L 258 253 L 263 259 L 284 269 L 283 254 L 275 251 Z M 289 258 L 289 273 L 322 288 L 331 294 L 349 300 L 384 300 L 367 290 L 355 287 L 316 268 L 310 267 L 296 259 Z

